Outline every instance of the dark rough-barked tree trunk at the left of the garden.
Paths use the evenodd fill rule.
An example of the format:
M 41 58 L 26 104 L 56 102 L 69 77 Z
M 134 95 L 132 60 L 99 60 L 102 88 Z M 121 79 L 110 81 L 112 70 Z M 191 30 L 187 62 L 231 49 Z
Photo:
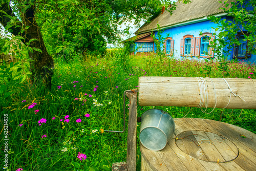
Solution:
M 0 23 L 6 27 L 10 24 L 10 16 L 15 16 L 10 4 L 0 4 Z M 51 88 L 51 78 L 53 75 L 54 61 L 51 55 L 48 54 L 44 40 L 42 39 L 41 32 L 35 20 L 35 5 L 27 5 L 26 8 L 21 8 L 20 13 L 22 14 L 22 21 L 16 20 L 16 24 L 9 28 L 12 30 L 12 34 L 17 36 L 20 35 L 24 39 L 21 39 L 23 43 L 29 42 L 30 39 L 35 38 L 38 41 L 30 42 L 31 48 L 40 49 L 42 52 L 33 50 L 29 52 L 30 58 L 30 71 L 32 72 L 32 81 L 43 82 L 48 88 Z M 5 13 L 4 13 L 5 12 Z M 9 15 L 9 17 L 8 17 Z M 24 30 L 24 32 L 22 32 Z

